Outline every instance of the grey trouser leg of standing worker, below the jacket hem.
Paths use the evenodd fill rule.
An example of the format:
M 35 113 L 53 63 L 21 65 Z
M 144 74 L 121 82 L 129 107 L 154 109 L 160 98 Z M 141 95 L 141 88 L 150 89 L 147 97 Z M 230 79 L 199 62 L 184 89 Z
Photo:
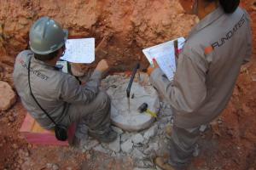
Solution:
M 169 163 L 177 169 L 186 167 L 195 150 L 198 139 L 200 138 L 199 127 L 181 128 L 172 127 L 172 139 Z

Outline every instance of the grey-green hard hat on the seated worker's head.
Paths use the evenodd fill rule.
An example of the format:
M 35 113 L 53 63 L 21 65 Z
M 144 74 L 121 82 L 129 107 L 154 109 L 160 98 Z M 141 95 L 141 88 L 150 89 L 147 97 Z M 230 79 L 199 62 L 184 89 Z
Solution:
M 49 17 L 38 19 L 29 32 L 29 45 L 36 54 L 50 54 L 61 48 L 68 36 L 68 31 Z

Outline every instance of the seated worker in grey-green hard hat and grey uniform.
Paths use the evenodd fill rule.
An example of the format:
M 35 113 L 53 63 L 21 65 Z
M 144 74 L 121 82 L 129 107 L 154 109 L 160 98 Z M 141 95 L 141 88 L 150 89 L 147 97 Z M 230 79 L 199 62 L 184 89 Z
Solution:
M 31 50 L 22 51 L 15 60 L 17 93 L 42 127 L 54 129 L 56 123 L 68 128 L 78 122 L 76 141 L 84 138 L 87 126 L 91 137 L 111 142 L 117 133 L 110 127 L 110 99 L 99 89 L 108 63 L 102 59 L 84 85 L 76 77 L 59 71 L 55 65 L 65 53 L 67 35 L 60 24 L 48 17 L 33 24 L 29 34 Z

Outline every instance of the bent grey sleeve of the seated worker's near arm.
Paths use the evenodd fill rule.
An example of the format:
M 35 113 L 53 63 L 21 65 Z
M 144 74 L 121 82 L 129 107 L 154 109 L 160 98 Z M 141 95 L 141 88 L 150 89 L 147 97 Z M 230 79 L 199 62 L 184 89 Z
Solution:
M 94 71 L 84 85 L 80 85 L 75 77 L 68 76 L 61 85 L 60 99 L 71 104 L 89 104 L 99 92 L 101 79 L 100 71 Z

